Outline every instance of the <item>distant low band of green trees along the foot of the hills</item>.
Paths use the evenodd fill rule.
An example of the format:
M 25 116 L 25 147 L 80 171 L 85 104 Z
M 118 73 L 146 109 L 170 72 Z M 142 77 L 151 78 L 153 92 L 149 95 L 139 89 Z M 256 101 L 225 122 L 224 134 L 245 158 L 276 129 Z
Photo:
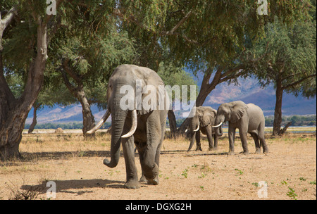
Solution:
M 182 122 L 184 122 L 185 118 L 176 120 L 176 125 L 180 127 Z M 266 116 L 266 127 L 273 126 L 273 116 Z M 286 125 L 287 122 L 292 121 L 292 126 L 316 126 L 316 115 L 292 115 L 292 116 L 283 116 L 282 117 L 282 126 Z M 101 129 L 108 129 L 111 126 L 111 122 L 105 122 L 102 125 Z M 169 127 L 168 120 L 166 122 L 166 126 Z M 82 122 L 68 122 L 68 123 L 42 123 L 37 124 L 35 129 L 54 129 L 56 130 L 58 127 L 63 130 L 79 130 L 82 129 Z M 25 129 L 28 130 L 30 128 L 30 124 L 25 125 Z

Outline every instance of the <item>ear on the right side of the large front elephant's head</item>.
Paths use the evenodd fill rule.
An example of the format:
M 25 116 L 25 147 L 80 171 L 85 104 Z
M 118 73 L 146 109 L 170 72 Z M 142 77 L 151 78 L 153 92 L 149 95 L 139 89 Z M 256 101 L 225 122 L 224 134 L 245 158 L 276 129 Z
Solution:
M 142 80 L 142 108 L 137 108 L 139 114 L 144 115 L 156 109 L 166 109 L 165 105 L 169 106 L 169 103 L 161 77 L 154 70 L 145 67 L 139 67 L 136 75 L 139 80 Z M 137 103 L 137 106 L 140 106 L 140 103 Z

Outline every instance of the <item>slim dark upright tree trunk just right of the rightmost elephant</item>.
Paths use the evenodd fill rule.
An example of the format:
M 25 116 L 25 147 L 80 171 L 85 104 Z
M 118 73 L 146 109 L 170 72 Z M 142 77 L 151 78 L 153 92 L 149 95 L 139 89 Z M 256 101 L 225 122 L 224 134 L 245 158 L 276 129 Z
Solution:
M 282 97 L 283 97 L 283 90 L 282 90 L 282 83 L 277 80 L 276 85 L 276 102 L 275 102 L 275 111 L 274 111 L 274 121 L 273 121 L 273 136 L 277 136 L 280 132 L 280 125 L 282 123 Z

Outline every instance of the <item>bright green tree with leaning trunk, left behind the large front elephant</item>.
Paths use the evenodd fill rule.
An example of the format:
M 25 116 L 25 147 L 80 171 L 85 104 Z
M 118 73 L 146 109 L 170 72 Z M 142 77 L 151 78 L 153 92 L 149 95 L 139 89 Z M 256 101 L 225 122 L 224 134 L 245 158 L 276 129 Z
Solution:
M 82 2 L 65 17 L 63 29 L 52 42 L 49 70 L 63 79 L 69 92 L 82 106 L 83 134 L 94 127 L 92 103 L 106 108 L 107 80 L 114 68 L 134 56 L 132 39 L 118 30 L 111 16 L 112 2 Z M 64 36 L 64 35 L 67 35 Z M 91 137 L 92 135 L 89 135 Z

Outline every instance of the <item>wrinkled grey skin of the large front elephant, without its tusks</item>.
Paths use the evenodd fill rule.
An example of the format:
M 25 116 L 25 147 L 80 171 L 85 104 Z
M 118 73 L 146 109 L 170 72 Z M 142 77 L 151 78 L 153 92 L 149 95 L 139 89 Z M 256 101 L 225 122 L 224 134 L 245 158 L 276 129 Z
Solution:
M 129 138 L 121 138 L 130 131 L 132 111 L 123 111 L 120 108 L 120 99 L 125 96 L 125 94 L 120 94 L 120 87 L 129 84 L 135 89 L 136 80 L 142 80 L 142 87 L 149 84 L 155 87 L 164 85 L 159 75 L 153 70 L 137 65 L 119 65 L 109 79 L 107 99 L 112 120 L 111 160 L 104 159 L 104 164 L 110 168 L 118 165 L 120 144 L 122 144 L 127 174 L 125 188 L 128 189 L 138 189 L 140 187 L 135 165 L 135 146 L 139 152 L 142 168 L 141 180 L 144 181 L 145 177 L 149 184 L 159 184 L 159 156 L 168 113 L 168 110 L 144 110 L 143 108 L 137 110 L 137 129 L 135 133 Z M 159 89 L 157 89 L 157 93 L 159 93 Z M 142 100 L 144 96 L 150 95 L 142 94 Z

